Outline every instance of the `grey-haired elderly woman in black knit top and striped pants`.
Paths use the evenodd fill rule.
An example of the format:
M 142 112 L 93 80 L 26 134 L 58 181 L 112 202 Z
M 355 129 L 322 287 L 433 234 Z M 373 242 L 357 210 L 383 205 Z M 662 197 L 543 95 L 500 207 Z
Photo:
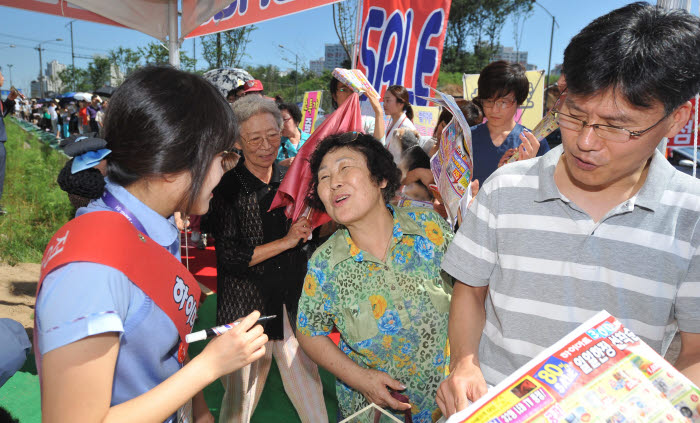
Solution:
M 305 218 L 292 223 L 284 209 L 268 211 L 284 176 L 283 168 L 275 165 L 282 116 L 273 101 L 259 96 L 247 96 L 232 107 L 240 125 L 236 147 L 243 156 L 223 176 L 211 202 L 209 224 L 216 237 L 218 275 L 216 320 L 230 323 L 249 314 L 248 310 L 277 318 L 265 328 L 270 339 L 265 357 L 223 378 L 221 421 L 250 420 L 274 355 L 301 420 L 325 422 L 318 368 L 299 348 L 290 325 L 306 274 L 306 255 L 300 245 L 311 233 L 311 225 Z

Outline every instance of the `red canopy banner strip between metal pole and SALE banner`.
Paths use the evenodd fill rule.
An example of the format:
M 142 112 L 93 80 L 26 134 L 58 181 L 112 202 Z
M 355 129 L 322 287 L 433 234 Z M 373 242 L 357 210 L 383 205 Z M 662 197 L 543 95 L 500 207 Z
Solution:
M 214 34 L 284 15 L 336 3 L 339 0 L 234 0 L 185 38 Z

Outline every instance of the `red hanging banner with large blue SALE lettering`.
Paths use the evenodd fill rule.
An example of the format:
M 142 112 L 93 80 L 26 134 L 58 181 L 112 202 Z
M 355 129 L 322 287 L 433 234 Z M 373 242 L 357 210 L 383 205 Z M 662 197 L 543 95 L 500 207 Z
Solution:
M 391 85 L 408 89 L 410 101 L 427 101 L 437 86 L 451 0 L 363 0 L 356 68 L 380 95 Z

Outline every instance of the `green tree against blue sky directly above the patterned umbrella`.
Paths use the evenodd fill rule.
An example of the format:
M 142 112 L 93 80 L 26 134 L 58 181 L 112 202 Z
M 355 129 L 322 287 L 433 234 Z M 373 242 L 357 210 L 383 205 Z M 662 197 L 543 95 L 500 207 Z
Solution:
M 256 29 L 255 25 L 248 25 L 202 37 L 204 60 L 210 68 L 239 67 L 246 56 L 250 34 Z

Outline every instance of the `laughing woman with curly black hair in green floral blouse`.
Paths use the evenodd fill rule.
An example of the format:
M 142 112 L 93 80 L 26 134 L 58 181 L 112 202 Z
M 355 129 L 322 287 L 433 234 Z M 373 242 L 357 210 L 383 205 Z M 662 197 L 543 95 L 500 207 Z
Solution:
M 400 172 L 369 135 L 327 138 L 311 171 L 311 202 L 340 229 L 309 261 L 299 343 L 338 378 L 345 417 L 374 402 L 399 418 L 410 409 L 414 422 L 433 422 L 441 415 L 435 394 L 449 372 L 452 279 L 440 263 L 453 234 L 432 210 L 388 206 Z M 340 349 L 325 336 L 333 327 Z

